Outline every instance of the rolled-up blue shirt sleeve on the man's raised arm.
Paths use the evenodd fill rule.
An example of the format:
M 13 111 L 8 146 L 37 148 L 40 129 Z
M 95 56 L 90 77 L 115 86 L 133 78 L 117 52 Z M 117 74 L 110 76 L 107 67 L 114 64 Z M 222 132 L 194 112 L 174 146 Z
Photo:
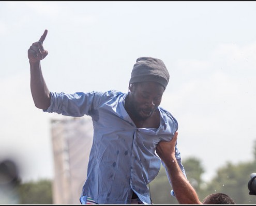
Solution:
M 93 107 L 94 95 L 95 92 L 77 92 L 73 94 L 50 92 L 50 107 L 47 110 L 43 110 L 43 112 L 56 112 L 74 117 L 88 115 Z

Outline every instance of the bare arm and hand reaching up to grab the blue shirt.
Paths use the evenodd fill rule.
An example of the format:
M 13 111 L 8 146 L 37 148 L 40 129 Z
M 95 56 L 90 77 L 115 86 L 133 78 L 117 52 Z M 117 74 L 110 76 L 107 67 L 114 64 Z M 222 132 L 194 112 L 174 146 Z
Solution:
M 186 179 L 182 170 L 179 168 L 175 158 L 175 143 L 178 133 L 175 132 L 170 142 L 161 141 L 157 146 L 157 155 L 167 166 L 174 194 L 180 204 L 202 204 L 192 185 Z

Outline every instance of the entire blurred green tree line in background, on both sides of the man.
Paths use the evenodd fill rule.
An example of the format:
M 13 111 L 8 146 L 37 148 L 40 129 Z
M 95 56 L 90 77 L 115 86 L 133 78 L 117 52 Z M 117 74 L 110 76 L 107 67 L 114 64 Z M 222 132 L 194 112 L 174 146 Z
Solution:
M 256 173 L 256 141 L 254 143 L 254 161 L 236 165 L 227 162 L 216 171 L 216 176 L 209 182 L 202 181 L 204 168 L 198 158 L 189 157 L 183 160 L 187 178 L 201 201 L 209 194 L 224 193 L 229 195 L 236 204 L 256 204 L 256 196 L 249 195 L 248 190 L 250 174 Z M 176 198 L 170 194 L 172 187 L 163 166 L 155 180 L 149 184 L 149 189 L 154 204 L 178 204 Z M 18 191 L 20 204 L 52 204 L 53 202 L 51 180 L 20 183 Z

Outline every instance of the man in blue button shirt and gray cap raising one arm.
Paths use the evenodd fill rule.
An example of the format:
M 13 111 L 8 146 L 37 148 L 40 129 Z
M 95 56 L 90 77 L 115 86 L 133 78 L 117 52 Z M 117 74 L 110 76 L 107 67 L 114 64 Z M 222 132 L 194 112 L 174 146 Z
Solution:
M 169 82 L 169 72 L 160 59 L 138 58 L 129 81 L 129 92 L 49 92 L 40 61 L 48 55 L 38 42 L 28 49 L 31 92 L 35 106 L 44 112 L 68 116 L 89 115 L 94 137 L 87 179 L 80 202 L 99 204 L 150 204 L 147 184 L 157 176 L 161 161 L 158 142 L 170 141 L 178 129 L 170 112 L 159 107 Z M 175 157 L 185 176 L 180 152 Z M 170 182 L 171 183 L 171 182 Z

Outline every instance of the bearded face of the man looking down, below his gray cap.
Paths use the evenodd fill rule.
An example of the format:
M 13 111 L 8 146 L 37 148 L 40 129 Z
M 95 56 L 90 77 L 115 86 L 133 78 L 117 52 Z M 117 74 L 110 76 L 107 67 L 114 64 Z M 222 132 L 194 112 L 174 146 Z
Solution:
M 156 82 L 141 82 L 130 87 L 132 114 L 140 120 L 150 117 L 160 105 L 164 87 Z

